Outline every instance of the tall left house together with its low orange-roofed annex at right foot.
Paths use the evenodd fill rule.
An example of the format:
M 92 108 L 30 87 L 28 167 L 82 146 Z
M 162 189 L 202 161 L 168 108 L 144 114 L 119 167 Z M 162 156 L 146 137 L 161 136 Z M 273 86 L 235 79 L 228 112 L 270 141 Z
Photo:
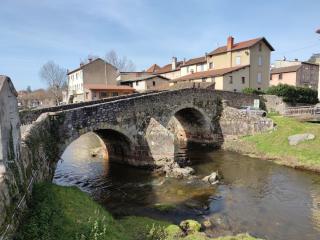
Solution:
M 133 89 L 118 86 L 118 70 L 101 58 L 88 59 L 86 64 L 68 72 L 67 102 L 76 103 L 108 96 L 132 93 Z

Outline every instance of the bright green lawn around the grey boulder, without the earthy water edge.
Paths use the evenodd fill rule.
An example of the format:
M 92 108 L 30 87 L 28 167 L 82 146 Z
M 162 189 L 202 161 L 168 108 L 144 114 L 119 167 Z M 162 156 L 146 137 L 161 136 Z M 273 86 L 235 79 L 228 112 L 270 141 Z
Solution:
M 256 149 L 267 157 L 275 157 L 288 165 L 320 170 L 320 124 L 299 122 L 282 116 L 271 118 L 277 124 L 277 130 L 244 137 L 243 140 L 254 143 Z M 288 137 L 299 133 L 312 133 L 316 138 L 290 146 Z

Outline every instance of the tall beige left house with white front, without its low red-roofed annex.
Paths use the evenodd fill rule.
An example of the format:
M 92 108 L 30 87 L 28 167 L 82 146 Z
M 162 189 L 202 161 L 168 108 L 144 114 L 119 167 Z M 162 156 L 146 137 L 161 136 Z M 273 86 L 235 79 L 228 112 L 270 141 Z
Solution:
M 68 92 L 66 94 L 68 103 L 84 102 L 93 100 L 90 96 L 91 89 L 89 85 L 104 85 L 107 88 L 117 86 L 116 78 L 118 70 L 102 60 L 88 59 L 88 63 L 81 63 L 79 68 L 68 72 Z

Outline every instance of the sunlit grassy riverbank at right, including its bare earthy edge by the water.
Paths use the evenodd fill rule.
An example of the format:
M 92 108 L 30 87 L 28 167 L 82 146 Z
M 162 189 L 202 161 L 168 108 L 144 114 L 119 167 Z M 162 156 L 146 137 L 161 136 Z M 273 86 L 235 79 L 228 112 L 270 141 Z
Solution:
M 283 116 L 270 118 L 276 124 L 275 130 L 254 136 L 227 138 L 223 149 L 320 173 L 320 124 Z M 289 145 L 289 136 L 302 133 L 314 134 L 315 139 Z

